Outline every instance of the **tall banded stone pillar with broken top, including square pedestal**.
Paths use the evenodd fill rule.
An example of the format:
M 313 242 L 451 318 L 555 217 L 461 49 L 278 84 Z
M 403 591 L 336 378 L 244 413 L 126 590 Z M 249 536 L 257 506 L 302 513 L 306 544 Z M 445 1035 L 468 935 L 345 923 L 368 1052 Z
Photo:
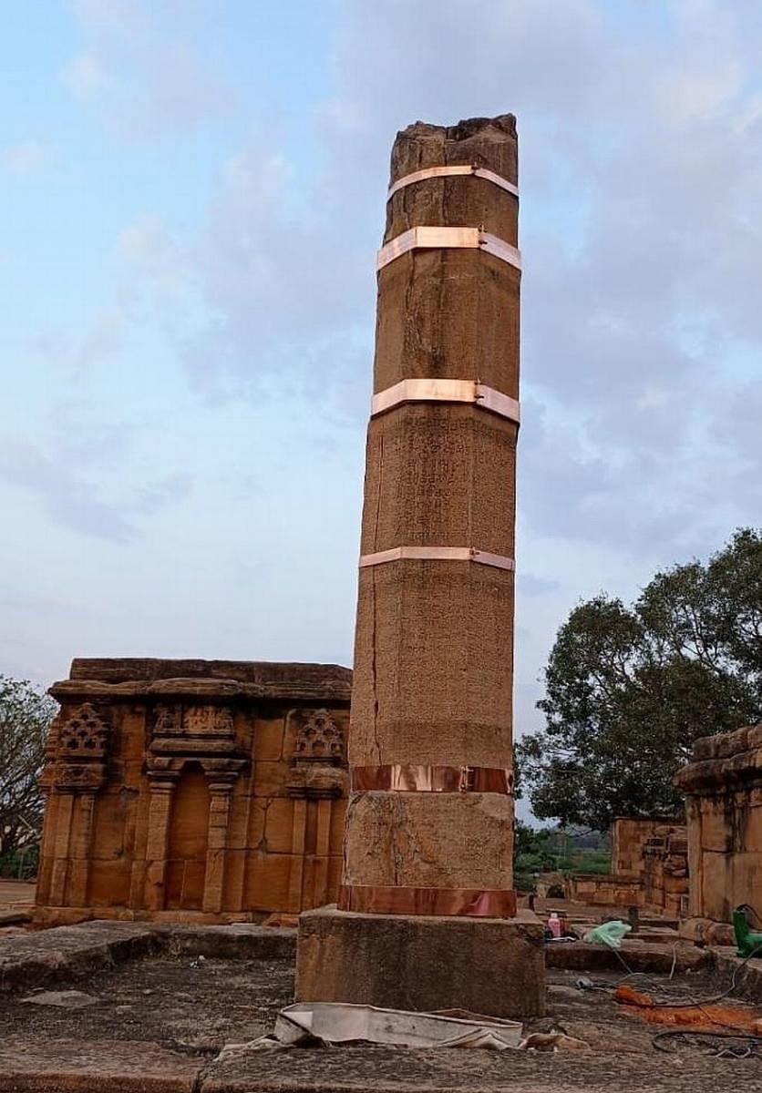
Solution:
M 301 919 L 305 1000 L 542 1011 L 512 869 L 516 181 L 509 115 L 391 153 L 344 870 Z

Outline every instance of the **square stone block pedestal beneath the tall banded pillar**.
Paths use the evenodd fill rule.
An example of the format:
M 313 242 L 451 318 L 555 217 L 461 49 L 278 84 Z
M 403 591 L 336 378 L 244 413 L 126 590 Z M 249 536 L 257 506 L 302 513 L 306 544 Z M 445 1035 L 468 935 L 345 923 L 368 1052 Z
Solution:
M 430 918 L 330 906 L 300 916 L 298 1001 L 538 1016 L 544 977 L 543 926 L 531 912 Z

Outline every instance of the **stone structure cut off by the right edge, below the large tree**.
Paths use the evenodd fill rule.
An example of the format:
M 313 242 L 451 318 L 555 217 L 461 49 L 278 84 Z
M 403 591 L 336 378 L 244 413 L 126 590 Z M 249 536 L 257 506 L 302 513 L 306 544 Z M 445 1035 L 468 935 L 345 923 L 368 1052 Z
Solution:
M 734 907 L 762 913 L 762 725 L 696 740 L 675 785 L 687 797 L 689 916 L 711 940 Z

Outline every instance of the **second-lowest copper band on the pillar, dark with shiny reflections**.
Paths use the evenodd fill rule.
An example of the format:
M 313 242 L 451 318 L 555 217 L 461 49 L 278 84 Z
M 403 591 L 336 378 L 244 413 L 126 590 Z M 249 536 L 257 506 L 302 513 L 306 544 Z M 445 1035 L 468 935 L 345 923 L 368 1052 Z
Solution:
M 511 794 L 513 772 L 500 766 L 426 766 L 414 763 L 387 763 L 380 766 L 353 766 L 350 785 L 392 794 Z

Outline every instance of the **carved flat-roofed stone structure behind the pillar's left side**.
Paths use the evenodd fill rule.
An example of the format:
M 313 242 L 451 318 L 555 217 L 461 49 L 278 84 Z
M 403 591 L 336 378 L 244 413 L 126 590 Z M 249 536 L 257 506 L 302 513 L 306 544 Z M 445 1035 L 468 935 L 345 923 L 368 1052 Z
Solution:
M 336 898 L 351 678 L 74 660 L 50 689 L 37 920 L 259 920 Z

